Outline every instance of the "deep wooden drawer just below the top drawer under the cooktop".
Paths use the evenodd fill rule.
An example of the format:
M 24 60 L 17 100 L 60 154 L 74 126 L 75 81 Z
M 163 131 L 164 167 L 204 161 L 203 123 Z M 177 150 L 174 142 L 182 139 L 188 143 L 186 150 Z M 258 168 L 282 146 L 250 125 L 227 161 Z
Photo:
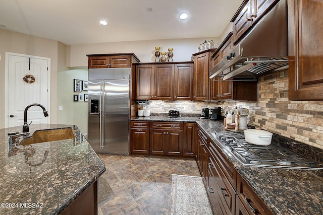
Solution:
M 215 182 L 212 184 L 212 191 L 217 192 L 218 201 L 221 201 L 220 206 L 222 211 L 224 211 L 224 214 L 233 214 L 236 204 L 236 192 L 212 156 L 209 156 L 208 170 L 211 174 L 209 176 L 211 182 Z M 207 187 L 207 189 L 210 192 L 210 188 Z

